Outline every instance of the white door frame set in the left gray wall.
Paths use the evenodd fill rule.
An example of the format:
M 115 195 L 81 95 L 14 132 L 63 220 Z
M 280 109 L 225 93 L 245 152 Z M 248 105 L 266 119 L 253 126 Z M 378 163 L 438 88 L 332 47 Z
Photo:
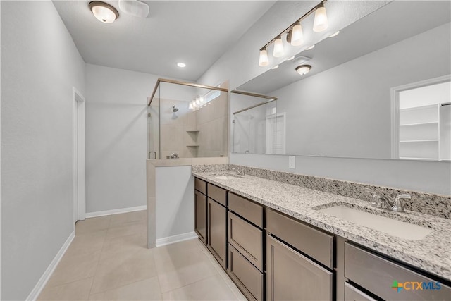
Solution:
M 73 87 L 72 91 L 72 183 L 73 222 L 86 219 L 86 153 L 85 153 L 85 97 Z

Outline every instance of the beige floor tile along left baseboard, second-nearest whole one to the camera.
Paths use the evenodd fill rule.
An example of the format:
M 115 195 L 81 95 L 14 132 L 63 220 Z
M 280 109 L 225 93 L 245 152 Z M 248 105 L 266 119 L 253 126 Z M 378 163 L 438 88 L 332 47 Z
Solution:
M 96 231 L 94 233 L 77 234 L 73 242 L 68 247 L 65 257 L 78 256 L 81 254 L 92 254 L 101 251 L 104 247 L 106 231 Z

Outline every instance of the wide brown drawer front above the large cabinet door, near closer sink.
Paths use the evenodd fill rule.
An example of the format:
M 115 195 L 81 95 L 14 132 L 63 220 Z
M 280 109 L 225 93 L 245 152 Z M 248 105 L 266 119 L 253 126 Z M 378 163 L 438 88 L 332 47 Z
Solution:
M 333 269 L 333 235 L 318 231 L 271 209 L 266 209 L 266 230 Z

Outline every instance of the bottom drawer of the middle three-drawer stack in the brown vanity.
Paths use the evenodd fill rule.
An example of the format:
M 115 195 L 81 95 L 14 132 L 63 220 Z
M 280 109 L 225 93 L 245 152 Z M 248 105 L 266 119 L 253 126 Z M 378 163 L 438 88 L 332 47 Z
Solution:
M 230 244 L 228 274 L 247 300 L 263 300 L 263 274 Z

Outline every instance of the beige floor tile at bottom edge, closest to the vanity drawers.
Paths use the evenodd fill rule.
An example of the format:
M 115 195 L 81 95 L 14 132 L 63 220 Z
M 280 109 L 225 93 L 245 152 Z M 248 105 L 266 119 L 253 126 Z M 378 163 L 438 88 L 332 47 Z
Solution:
M 235 294 L 219 275 L 163 294 L 163 300 L 237 300 Z

